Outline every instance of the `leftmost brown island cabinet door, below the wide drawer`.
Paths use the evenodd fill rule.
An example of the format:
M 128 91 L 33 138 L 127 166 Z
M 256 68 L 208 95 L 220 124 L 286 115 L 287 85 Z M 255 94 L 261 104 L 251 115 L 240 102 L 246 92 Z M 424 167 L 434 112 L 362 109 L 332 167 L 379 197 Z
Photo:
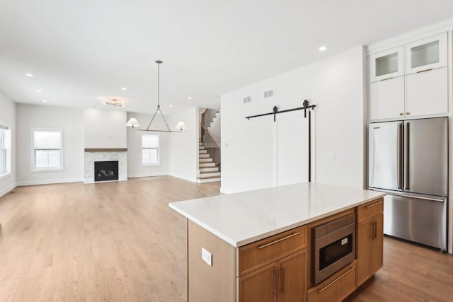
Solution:
M 239 278 L 239 302 L 275 302 L 277 262 Z

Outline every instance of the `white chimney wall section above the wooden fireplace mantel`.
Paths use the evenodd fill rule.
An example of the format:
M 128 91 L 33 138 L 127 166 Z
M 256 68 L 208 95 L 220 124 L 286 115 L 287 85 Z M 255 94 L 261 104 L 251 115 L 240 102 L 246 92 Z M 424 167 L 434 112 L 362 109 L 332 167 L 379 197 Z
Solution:
M 122 110 L 84 110 L 85 148 L 126 148 L 126 112 Z

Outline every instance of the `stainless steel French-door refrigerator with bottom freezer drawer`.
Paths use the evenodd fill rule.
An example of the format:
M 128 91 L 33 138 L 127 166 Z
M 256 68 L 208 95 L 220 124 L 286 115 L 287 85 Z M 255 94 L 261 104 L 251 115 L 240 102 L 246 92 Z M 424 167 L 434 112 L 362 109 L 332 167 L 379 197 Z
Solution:
M 369 189 L 386 192 L 384 233 L 447 250 L 448 118 L 369 124 Z

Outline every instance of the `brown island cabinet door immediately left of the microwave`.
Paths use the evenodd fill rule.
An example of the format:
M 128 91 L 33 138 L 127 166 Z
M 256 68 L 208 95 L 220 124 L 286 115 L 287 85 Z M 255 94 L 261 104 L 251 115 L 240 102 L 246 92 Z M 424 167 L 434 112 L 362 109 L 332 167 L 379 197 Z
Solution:
M 306 250 L 301 250 L 278 262 L 278 302 L 305 301 Z

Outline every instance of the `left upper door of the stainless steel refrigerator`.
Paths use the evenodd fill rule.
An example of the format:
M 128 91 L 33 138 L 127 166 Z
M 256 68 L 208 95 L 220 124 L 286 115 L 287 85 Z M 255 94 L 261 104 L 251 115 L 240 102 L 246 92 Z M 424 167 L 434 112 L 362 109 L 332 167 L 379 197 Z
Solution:
M 368 127 L 369 187 L 399 190 L 398 127 L 401 122 L 379 122 Z

